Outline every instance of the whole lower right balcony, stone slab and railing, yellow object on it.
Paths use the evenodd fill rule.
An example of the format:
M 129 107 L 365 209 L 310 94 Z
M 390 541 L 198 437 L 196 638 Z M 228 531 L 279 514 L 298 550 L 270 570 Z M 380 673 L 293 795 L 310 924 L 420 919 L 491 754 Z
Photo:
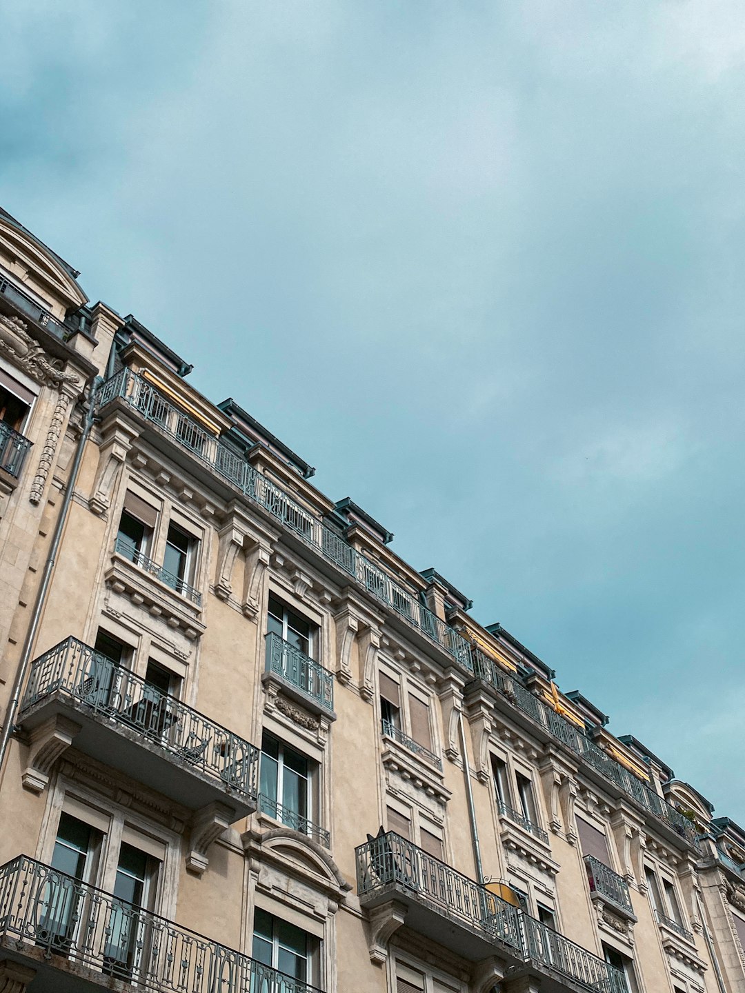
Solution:
M 400 923 L 469 961 L 498 954 L 514 976 L 536 973 L 547 993 L 567 985 L 626 993 L 623 975 L 608 962 L 400 835 L 389 831 L 357 848 L 357 885 L 373 935 L 378 929 L 389 934 L 397 915 Z

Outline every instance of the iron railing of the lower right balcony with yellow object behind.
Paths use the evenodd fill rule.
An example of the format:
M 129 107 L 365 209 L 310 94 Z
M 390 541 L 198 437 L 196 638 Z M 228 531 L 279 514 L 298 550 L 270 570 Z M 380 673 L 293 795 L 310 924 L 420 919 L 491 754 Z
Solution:
M 357 850 L 361 898 L 391 886 L 415 895 L 443 917 L 463 922 L 499 940 L 522 961 L 530 961 L 603 993 L 627 993 L 618 969 L 563 934 L 490 893 L 467 876 L 388 831 Z

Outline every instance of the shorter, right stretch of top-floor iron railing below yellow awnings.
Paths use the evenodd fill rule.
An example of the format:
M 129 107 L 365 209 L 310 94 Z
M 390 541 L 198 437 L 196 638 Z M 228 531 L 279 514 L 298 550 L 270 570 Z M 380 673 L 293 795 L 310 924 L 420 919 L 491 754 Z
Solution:
M 698 832 L 691 820 L 676 810 L 646 782 L 607 755 L 579 728 L 539 700 L 522 685 L 519 679 L 505 672 L 483 651 L 472 646 L 472 652 L 473 671 L 477 679 L 492 685 L 548 734 L 583 759 L 595 772 L 609 782 L 613 782 L 645 810 L 668 824 L 681 838 L 698 848 Z

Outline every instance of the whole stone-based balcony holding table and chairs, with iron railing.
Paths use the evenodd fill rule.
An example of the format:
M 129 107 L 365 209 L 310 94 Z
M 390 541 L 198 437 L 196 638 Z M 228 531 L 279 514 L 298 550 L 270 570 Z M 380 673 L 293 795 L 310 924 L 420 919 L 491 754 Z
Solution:
M 76 638 L 32 663 L 19 713 L 32 755 L 59 718 L 67 719 L 68 744 L 74 738 L 80 752 L 105 757 L 189 809 L 217 800 L 232 808 L 233 820 L 256 809 L 253 745 Z

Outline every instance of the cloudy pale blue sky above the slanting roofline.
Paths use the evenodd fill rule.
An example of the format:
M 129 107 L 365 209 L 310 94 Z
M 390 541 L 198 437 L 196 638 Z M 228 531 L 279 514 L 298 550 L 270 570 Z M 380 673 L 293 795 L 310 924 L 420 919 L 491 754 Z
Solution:
M 5 0 L 0 204 L 745 824 L 742 0 Z

